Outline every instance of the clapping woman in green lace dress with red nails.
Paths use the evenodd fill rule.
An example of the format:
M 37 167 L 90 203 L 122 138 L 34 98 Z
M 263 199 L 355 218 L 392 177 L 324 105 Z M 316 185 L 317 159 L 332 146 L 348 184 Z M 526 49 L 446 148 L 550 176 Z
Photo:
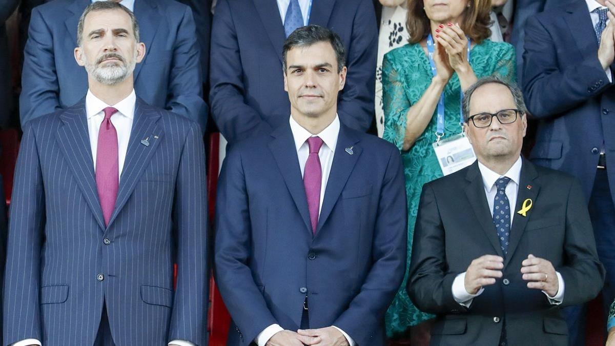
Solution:
M 514 47 L 487 39 L 489 12 L 489 0 L 408 0 L 410 44 L 384 56 L 383 138 L 402 153 L 408 263 L 421 189 L 424 183 L 442 177 L 432 147 L 437 140 L 438 108 L 443 110 L 445 140 L 462 132 L 460 95 L 477 78 L 494 74 L 515 81 Z M 443 107 L 438 107 L 442 101 Z M 424 344 L 429 339 L 429 324 L 421 327 L 421 322 L 433 316 L 419 311 L 408 298 L 407 274 L 386 314 L 387 335 L 395 339 L 410 332 L 413 345 Z

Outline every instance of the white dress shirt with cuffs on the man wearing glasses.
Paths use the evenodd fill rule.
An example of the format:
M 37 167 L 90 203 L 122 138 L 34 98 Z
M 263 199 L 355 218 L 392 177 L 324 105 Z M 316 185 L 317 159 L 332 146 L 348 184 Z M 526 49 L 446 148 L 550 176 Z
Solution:
M 510 167 L 510 169 L 508 170 L 508 172 L 506 172 L 506 174 L 499 175 L 498 173 L 491 171 L 491 169 L 488 169 L 485 165 L 480 163 L 480 161 L 478 162 L 478 169 L 480 170 L 480 175 L 482 175 L 483 177 L 483 187 L 485 188 L 485 196 L 487 198 L 487 202 L 489 203 L 489 211 L 491 212 L 492 217 L 493 217 L 493 200 L 496 196 L 496 193 L 498 193 L 498 188 L 496 188 L 495 186 L 496 180 L 500 179 L 501 177 L 510 178 L 510 182 L 508 183 L 508 185 L 506 185 L 506 191 L 505 191 L 506 196 L 510 203 L 510 225 L 512 225 L 512 219 L 515 217 L 515 206 L 517 205 L 517 192 L 519 190 L 521 166 L 522 166 L 522 160 L 521 160 L 521 156 L 519 156 L 517 161 L 515 161 L 515 163 L 512 165 L 512 167 Z M 496 231 L 495 228 L 493 228 L 493 231 L 494 232 Z M 559 272 L 555 272 L 555 274 L 557 275 L 557 281 L 558 281 L 557 294 L 555 294 L 554 297 L 551 297 L 549 296 L 549 294 L 547 294 L 547 292 L 545 291 L 542 291 L 542 292 L 546 294 L 547 298 L 549 298 L 550 304 L 559 305 L 563 301 L 563 297 L 564 297 L 564 280 L 563 278 L 561 278 L 561 275 Z M 472 300 L 474 299 L 474 297 L 477 297 L 480 294 L 482 294 L 482 292 L 485 291 L 485 289 L 481 288 L 480 290 L 478 290 L 476 294 L 469 294 L 466 291 L 465 280 L 466 280 L 466 272 L 463 272 L 457 275 L 455 280 L 453 280 L 453 288 L 452 288 L 453 298 L 460 305 L 463 305 L 464 307 L 469 308 L 470 304 L 472 304 Z

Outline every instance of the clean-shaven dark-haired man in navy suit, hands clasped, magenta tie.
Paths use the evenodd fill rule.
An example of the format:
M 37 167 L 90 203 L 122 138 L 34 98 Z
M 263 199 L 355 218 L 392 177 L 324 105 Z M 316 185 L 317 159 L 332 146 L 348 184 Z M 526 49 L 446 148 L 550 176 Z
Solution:
M 399 150 L 341 123 L 337 34 L 299 28 L 283 56 L 290 116 L 231 147 L 218 183 L 227 345 L 383 346 L 406 258 Z

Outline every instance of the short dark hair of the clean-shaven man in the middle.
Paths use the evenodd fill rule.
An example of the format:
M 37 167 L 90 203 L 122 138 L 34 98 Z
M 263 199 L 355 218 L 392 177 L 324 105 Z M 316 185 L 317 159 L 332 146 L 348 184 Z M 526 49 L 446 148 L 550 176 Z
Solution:
M 344 44 L 341 38 L 334 31 L 324 28 L 320 25 L 306 25 L 293 31 L 286 41 L 284 41 L 284 49 L 282 50 L 282 68 L 286 73 L 286 55 L 288 50 L 295 47 L 309 47 L 318 42 L 329 42 L 335 57 L 338 60 L 338 73 L 346 65 L 346 57 L 344 57 Z

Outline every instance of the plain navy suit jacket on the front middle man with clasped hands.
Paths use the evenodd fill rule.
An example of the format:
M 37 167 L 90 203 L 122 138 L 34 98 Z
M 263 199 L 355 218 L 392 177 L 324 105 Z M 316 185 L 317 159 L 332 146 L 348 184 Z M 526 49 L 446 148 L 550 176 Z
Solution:
M 227 345 L 248 345 L 274 323 L 296 331 L 308 297 L 311 328 L 335 325 L 383 346 L 405 268 L 403 184 L 397 148 L 342 125 L 312 236 L 289 124 L 234 146 L 216 201 L 216 283 L 234 321 Z

